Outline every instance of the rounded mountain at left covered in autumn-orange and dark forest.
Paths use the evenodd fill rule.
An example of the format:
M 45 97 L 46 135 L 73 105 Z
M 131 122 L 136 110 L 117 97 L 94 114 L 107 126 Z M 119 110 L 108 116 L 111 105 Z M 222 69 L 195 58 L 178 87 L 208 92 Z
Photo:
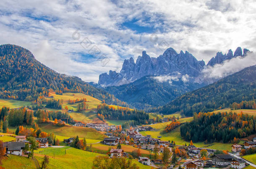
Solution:
M 57 73 L 17 45 L 0 45 L 0 98 L 34 101 L 49 91 L 85 93 L 109 104 L 121 101 L 76 76 Z

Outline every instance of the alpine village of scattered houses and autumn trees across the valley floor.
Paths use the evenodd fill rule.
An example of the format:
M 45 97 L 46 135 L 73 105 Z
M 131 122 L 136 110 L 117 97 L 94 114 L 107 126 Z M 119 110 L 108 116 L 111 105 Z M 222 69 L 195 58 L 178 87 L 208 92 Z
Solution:
M 168 165 L 168 168 L 177 168 L 180 166 L 184 169 L 225 167 L 242 169 L 248 165 L 254 165 L 250 161 L 241 158 L 240 152 L 250 149 L 251 147 L 256 147 L 256 138 L 253 138 L 251 141 L 243 142 L 243 145 L 233 144 L 232 152 L 223 153 L 216 149 L 196 147 L 193 145 L 192 141 L 189 145 L 176 145 L 175 141 L 161 140 L 161 136 L 152 138 L 151 135 L 143 136 L 140 134 L 140 131 L 154 131 L 155 129 L 151 126 L 131 127 L 128 130 L 123 130 L 121 126 L 109 126 L 106 123 L 77 123 L 74 126 L 89 127 L 96 129 L 97 131 L 107 131 L 105 132 L 107 137 L 101 141 L 101 144 L 111 147 L 110 151 L 107 153 L 110 158 L 129 158 L 129 153 L 122 149 L 122 145 L 125 144 L 139 149 L 149 150 L 152 154 L 154 154 L 154 152 L 157 153 L 158 158 L 153 158 L 153 155 L 150 154 L 150 156 L 138 156 L 137 159 L 141 164 L 157 168 L 161 168 L 161 164 L 166 164 L 166 162 L 161 159 L 161 156 L 166 152 L 168 157 L 167 164 L 170 164 Z M 69 139 L 64 139 L 63 142 L 70 145 L 74 139 L 75 138 L 71 137 Z M 47 138 L 35 138 L 35 140 L 38 142 L 39 148 L 52 146 L 49 144 Z M 30 144 L 26 136 L 16 136 L 15 140 L 4 142 L 3 146 L 6 149 L 6 154 L 22 156 L 25 153 L 28 153 L 23 151 L 26 143 Z M 174 158 L 176 158 L 176 161 L 173 160 Z M 177 166 L 177 164 L 179 165 Z

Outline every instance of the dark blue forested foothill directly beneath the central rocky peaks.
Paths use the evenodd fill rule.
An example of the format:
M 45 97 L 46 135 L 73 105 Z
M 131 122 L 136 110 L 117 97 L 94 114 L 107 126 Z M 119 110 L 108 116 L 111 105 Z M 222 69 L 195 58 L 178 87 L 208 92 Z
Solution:
M 182 94 L 204 86 L 199 83 L 186 83 L 182 76 L 172 76 L 173 81 L 162 81 L 161 76 L 144 76 L 132 83 L 108 86 L 104 90 L 136 108 L 149 108 L 165 105 Z

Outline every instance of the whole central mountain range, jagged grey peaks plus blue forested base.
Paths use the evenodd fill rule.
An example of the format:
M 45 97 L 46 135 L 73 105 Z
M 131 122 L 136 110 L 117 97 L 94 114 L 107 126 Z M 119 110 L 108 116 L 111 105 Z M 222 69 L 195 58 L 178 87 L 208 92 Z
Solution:
M 186 92 L 214 83 L 220 78 L 204 75 L 204 70 L 221 64 L 237 56 L 244 57 L 248 49 L 238 47 L 233 54 L 218 52 L 207 65 L 198 61 L 188 51 L 177 53 L 168 48 L 157 58 L 151 58 L 142 52 L 136 63 L 133 58 L 123 62 L 120 73 L 109 71 L 99 76 L 99 83 L 90 83 L 97 88 L 104 88 L 118 99 L 136 108 L 163 106 Z

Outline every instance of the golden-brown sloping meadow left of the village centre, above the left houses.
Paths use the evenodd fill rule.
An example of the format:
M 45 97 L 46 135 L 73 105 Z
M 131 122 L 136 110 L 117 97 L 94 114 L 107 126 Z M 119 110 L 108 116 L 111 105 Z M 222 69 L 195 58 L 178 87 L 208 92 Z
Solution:
M 55 126 L 52 124 L 39 124 L 39 127 L 42 128 L 44 132 L 50 133 L 53 132 L 58 136 L 66 137 L 76 137 L 86 138 L 92 140 L 103 140 L 104 134 L 99 131 L 86 127 L 76 127 L 76 126 Z

